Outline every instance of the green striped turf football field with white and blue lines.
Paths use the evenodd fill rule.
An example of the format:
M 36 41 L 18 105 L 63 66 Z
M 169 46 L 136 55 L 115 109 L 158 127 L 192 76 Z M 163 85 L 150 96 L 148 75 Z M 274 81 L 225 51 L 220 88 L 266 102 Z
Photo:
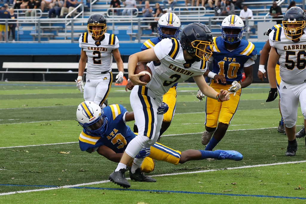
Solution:
M 162 144 L 204 149 L 205 102 L 197 100 L 197 90 L 179 84 L 176 115 Z M 156 183 L 130 181 L 123 189 L 108 181 L 116 163 L 80 151 L 75 113 L 83 96 L 74 83 L 0 82 L 0 203 L 305 203 L 305 141 L 297 139 L 296 156 L 285 156 L 278 101 L 266 103 L 268 91 L 268 84 L 243 89 L 215 148 L 237 150 L 242 161 L 157 161 L 149 174 Z M 108 103 L 132 111 L 124 87 L 112 86 Z M 299 108 L 297 131 L 303 121 Z

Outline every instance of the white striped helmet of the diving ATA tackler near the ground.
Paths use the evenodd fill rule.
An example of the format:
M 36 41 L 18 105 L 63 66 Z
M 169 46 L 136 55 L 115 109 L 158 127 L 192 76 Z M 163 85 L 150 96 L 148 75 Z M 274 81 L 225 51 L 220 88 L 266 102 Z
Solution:
M 94 102 L 80 103 L 76 110 L 76 118 L 88 133 L 103 135 L 107 129 L 107 118 L 101 107 Z

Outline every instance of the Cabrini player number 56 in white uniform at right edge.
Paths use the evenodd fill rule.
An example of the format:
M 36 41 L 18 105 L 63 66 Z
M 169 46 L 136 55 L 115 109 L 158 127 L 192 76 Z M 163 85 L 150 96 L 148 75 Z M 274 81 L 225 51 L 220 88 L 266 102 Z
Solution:
M 291 7 L 283 17 L 283 27 L 272 30 L 269 34 L 269 42 L 272 48 L 268 59 L 267 72 L 271 90 L 272 88 L 275 90 L 275 66 L 279 62 L 281 77 L 280 107 L 288 138 L 286 156 L 295 156 L 297 151 L 295 132 L 298 102 L 300 102 L 304 119 L 306 119 L 305 16 L 305 12 L 300 7 Z M 277 97 L 277 93 L 271 95 L 270 92 L 268 100 L 273 101 Z M 306 123 L 304 123 L 305 125 Z

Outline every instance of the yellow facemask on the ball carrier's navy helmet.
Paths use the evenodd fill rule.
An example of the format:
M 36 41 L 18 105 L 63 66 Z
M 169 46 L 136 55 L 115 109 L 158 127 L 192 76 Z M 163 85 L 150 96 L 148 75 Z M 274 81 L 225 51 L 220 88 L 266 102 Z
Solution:
M 208 46 L 214 46 L 214 44 L 212 42 L 195 40 L 191 42 L 191 46 L 195 48 L 193 53 L 189 53 L 191 56 L 196 56 L 207 61 L 212 55 L 211 50 L 208 50 L 207 48 Z

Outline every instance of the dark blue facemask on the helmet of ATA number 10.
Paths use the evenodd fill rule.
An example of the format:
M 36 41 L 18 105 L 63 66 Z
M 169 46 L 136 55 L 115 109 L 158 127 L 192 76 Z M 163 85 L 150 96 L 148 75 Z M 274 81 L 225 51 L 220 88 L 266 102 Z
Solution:
M 229 44 L 234 44 L 236 42 L 241 41 L 241 39 L 243 38 L 243 32 L 244 32 L 244 27 L 225 27 L 225 26 L 221 26 L 221 38 L 223 41 L 229 43 Z M 231 29 L 234 29 L 235 32 L 230 32 Z

